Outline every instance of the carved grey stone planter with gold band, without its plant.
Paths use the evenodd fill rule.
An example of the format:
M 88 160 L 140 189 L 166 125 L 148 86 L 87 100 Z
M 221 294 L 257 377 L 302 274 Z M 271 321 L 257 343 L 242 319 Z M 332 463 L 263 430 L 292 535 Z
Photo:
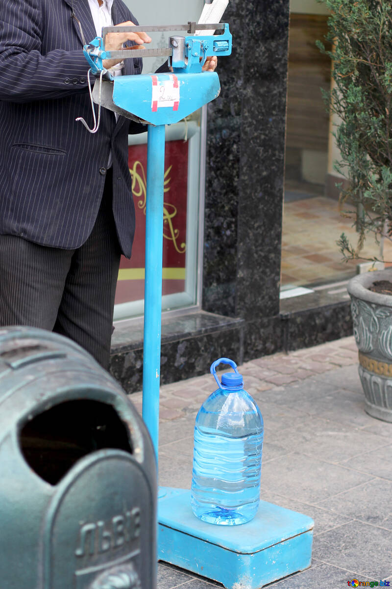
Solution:
M 375 280 L 392 282 L 392 268 L 359 274 L 350 280 L 347 290 L 366 412 L 392 422 L 392 296 L 368 290 Z

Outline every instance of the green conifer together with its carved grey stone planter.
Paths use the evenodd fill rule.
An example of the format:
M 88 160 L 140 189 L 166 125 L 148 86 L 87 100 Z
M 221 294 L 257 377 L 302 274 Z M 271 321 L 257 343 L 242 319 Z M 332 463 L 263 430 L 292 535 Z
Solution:
M 327 40 L 334 48 L 318 45 L 333 61 L 329 104 L 341 120 L 334 133 L 341 153 L 335 167 L 348 180 L 340 203 L 351 207 L 344 214 L 359 235 L 354 245 L 340 237 L 348 260 L 361 258 L 369 234 L 381 244 L 392 239 L 392 3 L 323 2 L 331 12 Z M 359 274 L 348 290 L 366 411 L 392 422 L 392 269 Z

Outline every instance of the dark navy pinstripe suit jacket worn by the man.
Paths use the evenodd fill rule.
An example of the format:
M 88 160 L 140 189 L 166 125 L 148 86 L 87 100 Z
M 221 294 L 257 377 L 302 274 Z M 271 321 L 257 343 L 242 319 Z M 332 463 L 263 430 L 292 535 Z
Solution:
M 86 41 L 96 35 L 87 0 L 73 0 Z M 0 2 L 0 233 L 45 246 L 73 249 L 91 233 L 103 193 L 110 149 L 113 213 L 120 246 L 130 256 L 135 210 L 128 168 L 128 132 L 143 130 L 102 109 L 92 124 L 78 23 L 71 0 Z M 115 0 L 113 23 L 132 20 Z M 141 59 L 126 59 L 125 74 L 139 74 Z M 132 130 L 131 130 L 132 131 Z

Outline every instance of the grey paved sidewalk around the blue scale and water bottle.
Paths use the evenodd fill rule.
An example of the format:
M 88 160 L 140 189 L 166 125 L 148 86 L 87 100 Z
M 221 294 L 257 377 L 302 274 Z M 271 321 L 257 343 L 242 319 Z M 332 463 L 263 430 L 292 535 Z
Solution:
M 353 578 L 392 587 L 392 423 L 364 411 L 357 358 L 346 337 L 240 366 L 264 418 L 261 498 L 314 519 L 311 567 L 268 587 L 343 589 Z M 160 485 L 190 488 L 193 425 L 215 388 L 210 375 L 162 386 Z M 141 410 L 141 393 L 130 398 Z M 211 585 L 159 563 L 158 589 Z

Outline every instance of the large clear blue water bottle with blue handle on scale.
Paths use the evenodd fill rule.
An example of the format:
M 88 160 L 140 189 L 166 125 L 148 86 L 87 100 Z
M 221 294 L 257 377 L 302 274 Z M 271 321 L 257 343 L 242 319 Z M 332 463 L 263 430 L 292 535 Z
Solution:
M 221 362 L 234 372 L 219 382 L 215 370 Z M 196 416 L 192 510 L 210 524 L 244 524 L 259 507 L 263 418 L 233 360 L 219 358 L 210 372 L 219 388 Z

